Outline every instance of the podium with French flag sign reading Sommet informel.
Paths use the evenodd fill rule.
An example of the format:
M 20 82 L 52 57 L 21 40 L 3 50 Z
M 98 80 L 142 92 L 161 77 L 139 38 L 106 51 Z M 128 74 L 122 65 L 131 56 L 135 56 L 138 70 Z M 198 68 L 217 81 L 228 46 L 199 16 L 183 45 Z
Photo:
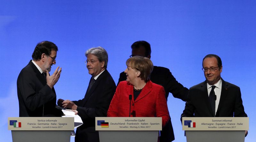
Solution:
M 244 142 L 248 117 L 182 117 L 187 142 Z

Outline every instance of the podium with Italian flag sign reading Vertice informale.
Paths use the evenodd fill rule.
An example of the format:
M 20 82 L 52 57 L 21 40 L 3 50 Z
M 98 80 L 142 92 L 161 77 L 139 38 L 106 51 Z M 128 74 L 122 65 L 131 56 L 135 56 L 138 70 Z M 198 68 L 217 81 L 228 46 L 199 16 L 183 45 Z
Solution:
M 74 117 L 8 117 L 13 142 L 70 142 Z

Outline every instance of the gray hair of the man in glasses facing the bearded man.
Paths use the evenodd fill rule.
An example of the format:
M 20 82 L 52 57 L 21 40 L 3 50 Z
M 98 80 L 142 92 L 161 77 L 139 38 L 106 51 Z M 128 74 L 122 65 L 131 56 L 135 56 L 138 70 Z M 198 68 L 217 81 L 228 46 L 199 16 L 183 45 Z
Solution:
M 96 56 L 98 58 L 98 60 L 100 60 L 101 62 L 105 61 L 104 67 L 107 68 L 107 66 L 108 66 L 108 53 L 104 48 L 102 48 L 100 46 L 99 47 L 92 47 L 92 48 L 88 49 L 85 52 L 85 56 L 87 57 L 88 54 L 92 54 L 92 55 Z

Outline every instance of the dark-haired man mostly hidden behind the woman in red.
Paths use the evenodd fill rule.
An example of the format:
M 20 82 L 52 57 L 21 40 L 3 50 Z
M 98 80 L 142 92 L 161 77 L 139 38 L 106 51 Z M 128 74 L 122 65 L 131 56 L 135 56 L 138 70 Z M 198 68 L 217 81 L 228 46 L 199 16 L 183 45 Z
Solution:
M 147 41 L 136 41 L 132 44 L 132 55 L 133 56 L 143 56 L 150 59 L 151 57 L 151 47 Z M 126 74 L 124 72 L 120 73 L 120 77 L 118 80 L 117 85 L 121 81 L 126 80 Z M 164 87 L 165 90 L 165 98 L 169 96 L 169 92 L 172 93 L 173 97 L 179 98 L 182 101 L 187 100 L 188 96 L 188 89 L 185 88 L 182 84 L 180 84 L 176 79 L 173 77 L 172 73 L 168 68 L 165 67 L 157 67 L 154 66 L 153 71 L 150 75 L 150 80 L 153 83 L 161 85 Z M 161 131 L 160 142 L 170 142 L 174 140 L 174 133 L 172 128 L 171 117 L 168 123 Z

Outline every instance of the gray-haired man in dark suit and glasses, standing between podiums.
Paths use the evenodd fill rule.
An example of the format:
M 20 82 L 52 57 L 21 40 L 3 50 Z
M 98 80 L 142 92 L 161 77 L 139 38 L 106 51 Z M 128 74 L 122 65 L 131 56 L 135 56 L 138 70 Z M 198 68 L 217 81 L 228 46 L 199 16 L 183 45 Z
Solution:
M 116 84 L 107 70 L 108 53 L 102 47 L 86 51 L 86 67 L 92 75 L 82 100 L 58 100 L 58 105 L 77 110 L 83 125 L 76 129 L 76 142 L 99 142 L 99 133 L 95 131 L 95 117 L 106 117 L 109 104 L 116 90 Z

